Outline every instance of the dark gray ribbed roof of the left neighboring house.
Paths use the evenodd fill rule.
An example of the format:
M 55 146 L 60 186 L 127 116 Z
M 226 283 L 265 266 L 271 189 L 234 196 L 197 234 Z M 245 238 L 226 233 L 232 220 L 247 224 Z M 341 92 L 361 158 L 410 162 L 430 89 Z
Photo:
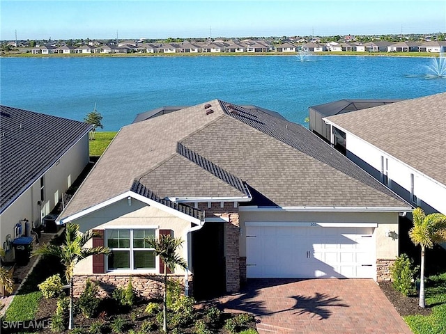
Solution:
M 77 120 L 0 106 L 0 212 L 90 129 Z

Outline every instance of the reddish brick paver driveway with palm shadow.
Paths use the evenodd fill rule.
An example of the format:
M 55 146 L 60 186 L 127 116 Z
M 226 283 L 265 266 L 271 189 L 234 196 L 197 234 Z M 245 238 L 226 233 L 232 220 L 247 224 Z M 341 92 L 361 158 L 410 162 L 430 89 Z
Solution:
M 256 279 L 219 300 L 252 312 L 261 334 L 410 334 L 380 287 L 367 279 Z

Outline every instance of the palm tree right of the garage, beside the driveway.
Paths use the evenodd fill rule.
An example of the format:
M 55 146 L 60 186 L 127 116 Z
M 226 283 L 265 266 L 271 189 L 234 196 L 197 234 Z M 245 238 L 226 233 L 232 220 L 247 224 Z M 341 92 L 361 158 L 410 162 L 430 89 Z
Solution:
M 424 214 L 422 208 L 413 210 L 413 228 L 409 231 L 410 240 L 415 246 L 421 246 L 420 268 L 420 308 L 425 308 L 424 302 L 424 249 L 432 248 L 433 244 L 446 241 L 446 216 L 444 214 Z

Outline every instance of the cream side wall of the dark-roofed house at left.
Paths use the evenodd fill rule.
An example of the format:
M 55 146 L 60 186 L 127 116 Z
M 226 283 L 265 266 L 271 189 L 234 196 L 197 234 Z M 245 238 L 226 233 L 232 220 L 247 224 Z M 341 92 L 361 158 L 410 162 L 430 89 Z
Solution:
M 14 239 L 14 227 L 20 220 L 26 218 L 35 225 L 40 223 L 40 218 L 49 214 L 54 209 L 63 192 L 67 191 L 71 183 L 76 180 L 86 164 L 89 163 L 89 137 L 86 134 L 80 141 L 61 157 L 58 164 L 54 164 L 45 173 L 45 200 L 39 206 L 40 201 L 40 177 L 22 195 L 15 200 L 0 215 L 0 246 L 10 234 Z M 56 195 L 56 196 L 55 196 Z M 57 198 L 57 200 L 55 199 Z M 42 211 L 41 213 L 39 211 Z

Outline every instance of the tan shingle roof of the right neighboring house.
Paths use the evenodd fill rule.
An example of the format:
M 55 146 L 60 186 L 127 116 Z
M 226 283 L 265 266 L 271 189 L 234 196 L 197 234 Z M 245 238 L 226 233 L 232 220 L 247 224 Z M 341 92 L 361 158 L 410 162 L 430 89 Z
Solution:
M 440 93 L 330 116 L 328 120 L 446 184 L 445 118 L 446 93 Z

